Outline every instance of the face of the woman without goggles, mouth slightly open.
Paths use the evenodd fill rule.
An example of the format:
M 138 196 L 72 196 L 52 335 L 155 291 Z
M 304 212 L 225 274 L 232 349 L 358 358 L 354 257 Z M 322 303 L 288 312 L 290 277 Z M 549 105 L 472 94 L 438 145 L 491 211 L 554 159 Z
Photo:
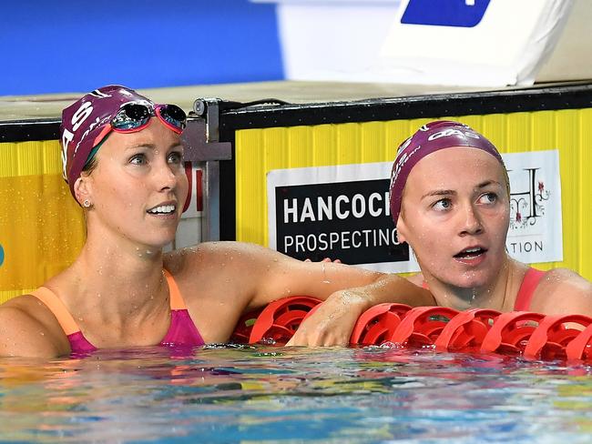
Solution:
M 436 151 L 407 178 L 397 230 L 425 278 L 457 288 L 493 283 L 505 261 L 508 225 L 503 166 L 480 149 Z

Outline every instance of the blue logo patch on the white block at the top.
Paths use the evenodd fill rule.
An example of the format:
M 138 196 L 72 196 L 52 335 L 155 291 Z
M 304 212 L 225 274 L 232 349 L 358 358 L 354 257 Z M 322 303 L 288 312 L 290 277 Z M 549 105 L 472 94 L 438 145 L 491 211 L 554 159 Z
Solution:
M 409 0 L 401 18 L 406 25 L 475 27 L 490 0 Z

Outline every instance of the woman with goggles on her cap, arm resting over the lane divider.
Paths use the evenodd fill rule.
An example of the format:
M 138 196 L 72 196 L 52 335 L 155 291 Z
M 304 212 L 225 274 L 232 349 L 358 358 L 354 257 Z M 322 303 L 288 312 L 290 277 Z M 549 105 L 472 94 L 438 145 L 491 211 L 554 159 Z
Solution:
M 301 262 L 251 244 L 163 252 L 188 195 L 185 113 L 105 86 L 62 117 L 64 177 L 84 210 L 87 240 L 70 267 L 0 306 L 0 355 L 225 342 L 243 313 L 294 295 L 325 303 L 290 345 L 347 345 L 358 316 L 377 303 L 434 303 L 395 275 Z

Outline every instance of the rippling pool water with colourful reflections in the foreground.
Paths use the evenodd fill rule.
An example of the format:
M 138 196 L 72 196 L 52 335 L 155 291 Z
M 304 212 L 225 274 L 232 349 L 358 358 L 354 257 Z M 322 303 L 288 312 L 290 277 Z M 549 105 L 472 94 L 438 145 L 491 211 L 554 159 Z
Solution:
M 592 367 L 395 348 L 0 360 L 0 440 L 592 442 Z

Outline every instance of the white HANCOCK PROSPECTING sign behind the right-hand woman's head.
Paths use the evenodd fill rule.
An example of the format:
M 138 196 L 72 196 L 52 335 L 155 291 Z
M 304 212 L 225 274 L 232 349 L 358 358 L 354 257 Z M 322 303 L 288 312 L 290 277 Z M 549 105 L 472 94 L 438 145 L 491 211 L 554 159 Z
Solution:
M 563 260 L 557 150 L 503 155 L 510 177 L 506 248 L 526 263 Z M 419 271 L 389 207 L 392 162 L 273 170 L 269 245 L 300 259 L 340 258 L 384 272 Z

